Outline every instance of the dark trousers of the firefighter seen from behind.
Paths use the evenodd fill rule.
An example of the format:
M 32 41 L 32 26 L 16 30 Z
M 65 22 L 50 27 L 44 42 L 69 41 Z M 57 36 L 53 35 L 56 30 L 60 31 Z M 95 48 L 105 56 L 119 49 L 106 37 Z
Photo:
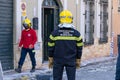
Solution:
M 63 62 L 64 63 L 64 62 Z M 62 80 L 64 67 L 66 69 L 66 74 L 68 80 L 75 80 L 76 66 L 75 64 L 63 64 L 54 62 L 53 65 L 53 80 Z

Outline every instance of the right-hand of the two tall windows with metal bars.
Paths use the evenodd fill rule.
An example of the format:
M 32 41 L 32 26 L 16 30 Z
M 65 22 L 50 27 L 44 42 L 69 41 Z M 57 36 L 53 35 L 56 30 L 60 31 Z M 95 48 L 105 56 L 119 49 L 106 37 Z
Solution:
M 99 43 L 106 43 L 108 41 L 108 1 L 101 0 L 101 13 L 100 13 L 100 39 Z

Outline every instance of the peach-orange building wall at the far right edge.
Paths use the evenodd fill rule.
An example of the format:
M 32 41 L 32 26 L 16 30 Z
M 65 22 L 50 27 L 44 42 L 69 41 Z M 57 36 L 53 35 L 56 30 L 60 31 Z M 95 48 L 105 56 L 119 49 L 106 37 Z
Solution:
M 120 35 L 120 0 L 112 0 L 112 32 L 113 32 L 113 41 L 114 41 L 114 53 L 118 54 L 118 35 Z

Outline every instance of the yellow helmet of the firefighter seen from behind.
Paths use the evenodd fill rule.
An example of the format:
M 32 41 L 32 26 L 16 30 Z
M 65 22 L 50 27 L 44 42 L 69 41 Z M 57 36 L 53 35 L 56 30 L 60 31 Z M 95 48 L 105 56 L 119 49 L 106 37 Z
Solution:
M 59 16 L 60 16 L 60 23 L 72 23 L 73 22 L 72 13 L 68 10 L 63 10 Z

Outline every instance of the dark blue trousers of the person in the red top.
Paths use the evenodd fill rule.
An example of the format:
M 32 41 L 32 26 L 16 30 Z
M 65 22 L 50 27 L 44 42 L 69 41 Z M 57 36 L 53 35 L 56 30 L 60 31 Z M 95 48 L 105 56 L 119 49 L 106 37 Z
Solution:
M 27 53 L 29 53 L 29 56 L 30 56 L 30 59 L 31 59 L 31 62 L 32 62 L 32 67 L 35 67 L 36 66 L 36 60 L 35 60 L 34 48 L 33 49 L 22 48 L 22 50 L 21 50 L 21 56 L 20 56 L 20 60 L 19 60 L 18 64 L 20 66 L 23 65 Z

